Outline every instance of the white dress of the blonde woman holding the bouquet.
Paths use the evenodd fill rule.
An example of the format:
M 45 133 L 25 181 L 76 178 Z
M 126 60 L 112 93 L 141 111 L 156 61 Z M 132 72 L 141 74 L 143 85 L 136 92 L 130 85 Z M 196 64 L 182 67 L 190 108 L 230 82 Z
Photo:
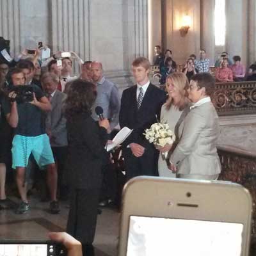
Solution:
M 164 104 L 161 108 L 161 122 L 167 122 L 172 132 L 174 132 L 175 125 L 179 121 L 182 112 L 183 111 L 180 111 L 179 108 L 175 108 L 173 105 L 170 109 L 166 109 L 166 104 Z M 184 125 L 183 123 L 184 122 L 180 125 Z M 176 177 L 176 174 L 172 173 L 172 171 L 168 169 L 166 161 L 163 160 L 161 153 L 158 158 L 158 172 L 160 177 Z

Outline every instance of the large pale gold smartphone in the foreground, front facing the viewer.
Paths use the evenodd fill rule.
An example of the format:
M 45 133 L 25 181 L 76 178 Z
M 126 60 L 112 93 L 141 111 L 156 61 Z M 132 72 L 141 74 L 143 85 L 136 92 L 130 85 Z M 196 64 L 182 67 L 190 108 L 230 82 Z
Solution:
M 119 256 L 248 256 L 252 198 L 243 186 L 141 176 L 122 196 Z

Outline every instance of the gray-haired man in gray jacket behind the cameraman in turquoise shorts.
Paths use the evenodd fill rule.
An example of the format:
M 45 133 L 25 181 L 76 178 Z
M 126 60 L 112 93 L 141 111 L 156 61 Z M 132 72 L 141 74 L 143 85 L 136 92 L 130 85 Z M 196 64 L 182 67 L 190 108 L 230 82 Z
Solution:
M 63 184 L 63 172 L 67 159 L 67 129 L 66 118 L 62 106 L 66 94 L 57 90 L 59 77 L 51 72 L 46 72 L 42 78 L 42 86 L 47 93 L 52 110 L 45 118 L 45 130 L 49 136 L 54 159 L 58 169 L 58 192 L 61 199 L 67 198 L 67 186 Z

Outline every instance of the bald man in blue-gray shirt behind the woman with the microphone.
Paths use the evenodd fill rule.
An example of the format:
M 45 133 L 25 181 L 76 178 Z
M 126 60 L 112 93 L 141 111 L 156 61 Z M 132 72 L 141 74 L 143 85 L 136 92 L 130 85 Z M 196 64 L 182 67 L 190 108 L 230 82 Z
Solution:
M 92 81 L 97 84 L 97 99 L 93 106 L 93 119 L 98 120 L 94 109 L 97 106 L 102 107 L 103 115 L 109 119 L 111 130 L 118 125 L 120 111 L 120 95 L 114 83 L 103 76 L 102 64 L 98 61 L 91 63 Z

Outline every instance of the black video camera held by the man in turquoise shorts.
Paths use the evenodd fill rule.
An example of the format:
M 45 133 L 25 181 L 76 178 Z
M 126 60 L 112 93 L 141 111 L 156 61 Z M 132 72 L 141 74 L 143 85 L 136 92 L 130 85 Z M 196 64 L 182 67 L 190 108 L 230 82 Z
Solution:
M 17 96 L 15 99 L 10 98 L 11 101 L 16 100 L 17 103 L 33 101 L 33 86 L 30 85 L 15 85 L 12 87 L 11 92 L 15 92 Z

